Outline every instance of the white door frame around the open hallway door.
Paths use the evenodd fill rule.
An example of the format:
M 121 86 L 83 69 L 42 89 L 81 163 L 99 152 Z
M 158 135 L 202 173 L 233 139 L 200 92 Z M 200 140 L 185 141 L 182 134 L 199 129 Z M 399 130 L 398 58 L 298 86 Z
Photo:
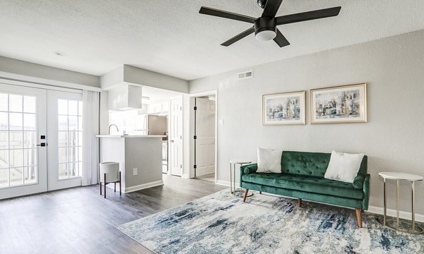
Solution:
M 189 95 L 189 178 L 194 178 L 194 99 L 215 96 L 215 183 L 218 181 L 218 90 L 197 92 Z

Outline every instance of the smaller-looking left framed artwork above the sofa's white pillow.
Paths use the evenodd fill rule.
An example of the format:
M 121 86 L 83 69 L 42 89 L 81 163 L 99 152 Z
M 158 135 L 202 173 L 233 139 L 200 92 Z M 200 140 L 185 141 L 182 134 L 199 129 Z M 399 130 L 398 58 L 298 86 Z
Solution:
M 262 124 L 305 124 L 305 91 L 262 95 Z

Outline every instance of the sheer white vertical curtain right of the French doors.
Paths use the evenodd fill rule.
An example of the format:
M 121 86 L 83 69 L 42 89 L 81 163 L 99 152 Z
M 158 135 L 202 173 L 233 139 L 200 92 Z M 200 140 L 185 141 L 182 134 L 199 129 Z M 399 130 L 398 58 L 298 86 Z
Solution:
M 99 92 L 83 90 L 83 186 L 98 183 Z

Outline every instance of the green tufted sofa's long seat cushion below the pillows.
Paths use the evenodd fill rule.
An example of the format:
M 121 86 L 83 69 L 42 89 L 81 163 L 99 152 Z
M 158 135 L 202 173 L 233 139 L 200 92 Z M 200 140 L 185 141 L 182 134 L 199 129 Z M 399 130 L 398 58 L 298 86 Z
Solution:
M 322 176 L 250 173 L 243 174 L 242 181 L 296 191 L 333 195 L 343 198 L 353 198 L 358 200 L 362 200 L 364 198 L 363 190 L 353 188 L 352 183 L 324 179 Z

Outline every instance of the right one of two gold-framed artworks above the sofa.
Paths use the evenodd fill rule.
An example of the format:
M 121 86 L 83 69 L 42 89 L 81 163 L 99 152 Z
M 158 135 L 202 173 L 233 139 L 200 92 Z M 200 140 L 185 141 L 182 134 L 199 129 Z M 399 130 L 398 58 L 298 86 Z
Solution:
M 366 123 L 367 84 L 311 90 L 311 123 Z

